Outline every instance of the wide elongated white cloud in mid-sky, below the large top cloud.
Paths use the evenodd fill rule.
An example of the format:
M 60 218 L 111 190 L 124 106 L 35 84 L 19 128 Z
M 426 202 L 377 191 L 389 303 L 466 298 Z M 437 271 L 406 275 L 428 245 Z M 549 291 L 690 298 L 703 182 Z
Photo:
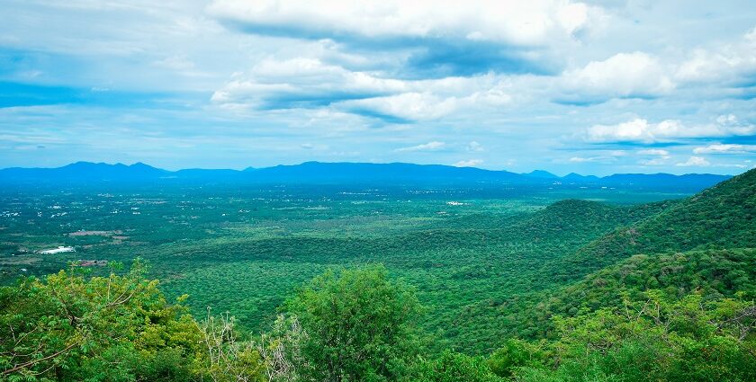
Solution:
M 392 122 L 434 120 L 464 107 L 511 101 L 499 76 L 400 80 L 355 72 L 316 58 L 268 58 L 212 94 L 228 108 L 283 110 L 333 107 Z

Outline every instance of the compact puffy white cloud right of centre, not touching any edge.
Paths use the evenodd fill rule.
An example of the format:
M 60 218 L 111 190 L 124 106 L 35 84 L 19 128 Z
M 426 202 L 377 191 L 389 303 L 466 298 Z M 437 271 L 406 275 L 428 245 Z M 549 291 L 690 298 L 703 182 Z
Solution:
M 644 52 L 618 53 L 561 77 L 557 102 L 604 102 L 611 98 L 648 98 L 670 93 L 675 85 L 662 64 Z

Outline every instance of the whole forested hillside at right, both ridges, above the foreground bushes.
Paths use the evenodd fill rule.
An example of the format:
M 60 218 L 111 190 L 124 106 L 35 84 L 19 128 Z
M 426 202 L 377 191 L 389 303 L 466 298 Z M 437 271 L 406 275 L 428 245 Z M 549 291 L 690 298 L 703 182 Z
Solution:
M 644 301 L 651 289 L 670 300 L 689 293 L 705 301 L 756 298 L 756 170 L 667 203 L 547 267 L 556 270 L 554 280 L 586 276 L 516 314 L 519 330 L 548 336 L 554 315 L 622 308 L 625 300 Z

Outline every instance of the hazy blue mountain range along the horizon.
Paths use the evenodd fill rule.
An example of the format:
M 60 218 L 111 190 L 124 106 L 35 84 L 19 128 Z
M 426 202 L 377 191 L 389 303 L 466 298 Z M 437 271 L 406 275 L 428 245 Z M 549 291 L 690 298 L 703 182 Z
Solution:
M 77 162 L 57 168 L 6 168 L 0 182 L 257 182 L 305 184 L 563 184 L 605 187 L 703 190 L 730 175 L 691 173 L 619 173 L 605 177 L 570 173 L 557 176 L 536 170 L 531 173 L 483 170 L 441 164 L 369 164 L 305 162 L 245 170 L 184 169 L 168 171 L 148 164 L 103 164 Z

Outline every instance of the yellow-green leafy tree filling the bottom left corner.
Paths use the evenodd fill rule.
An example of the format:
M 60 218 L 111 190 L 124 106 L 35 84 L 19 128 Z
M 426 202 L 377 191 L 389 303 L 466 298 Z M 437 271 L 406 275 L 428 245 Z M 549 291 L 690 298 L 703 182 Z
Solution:
M 199 333 L 170 305 L 139 260 L 123 276 L 76 268 L 0 289 L 0 369 L 27 380 L 131 380 L 185 376 Z M 144 365 L 144 367 L 142 366 Z

